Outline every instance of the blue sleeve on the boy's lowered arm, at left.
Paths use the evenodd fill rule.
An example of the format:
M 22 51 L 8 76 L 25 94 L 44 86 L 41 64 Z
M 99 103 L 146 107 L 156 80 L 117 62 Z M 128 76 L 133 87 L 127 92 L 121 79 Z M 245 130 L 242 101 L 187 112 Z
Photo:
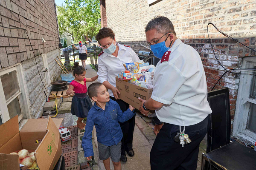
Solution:
M 85 130 L 84 130 L 84 137 L 82 138 L 82 147 L 84 149 L 84 157 L 89 157 L 89 156 L 93 156 L 93 140 L 92 140 L 92 136 L 93 136 L 93 119 L 90 116 L 93 113 L 88 113 L 88 117 L 86 120 L 86 126 L 85 126 Z

